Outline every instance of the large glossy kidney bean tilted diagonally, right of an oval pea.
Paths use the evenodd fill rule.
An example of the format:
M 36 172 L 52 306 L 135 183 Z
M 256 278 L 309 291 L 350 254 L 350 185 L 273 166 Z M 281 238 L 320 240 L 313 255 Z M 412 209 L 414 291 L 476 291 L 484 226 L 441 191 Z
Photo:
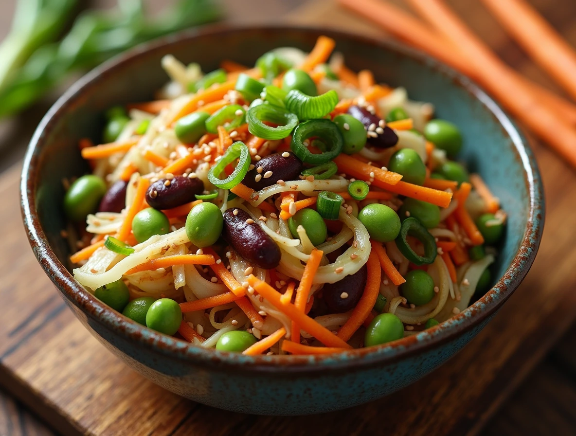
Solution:
M 282 255 L 278 245 L 250 215 L 242 209 L 230 208 L 223 217 L 222 237 L 240 256 L 265 270 L 278 266 Z

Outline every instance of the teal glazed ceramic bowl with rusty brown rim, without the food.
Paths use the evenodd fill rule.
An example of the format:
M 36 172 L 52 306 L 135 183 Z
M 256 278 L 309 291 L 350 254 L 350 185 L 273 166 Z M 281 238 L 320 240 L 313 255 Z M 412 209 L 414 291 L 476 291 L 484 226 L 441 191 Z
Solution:
M 168 80 L 160 67 L 166 54 L 199 62 L 210 71 L 222 59 L 253 65 L 275 47 L 309 51 L 320 35 L 336 40 L 336 50 L 351 69 L 370 69 L 378 81 L 406 87 L 411 98 L 434 103 L 437 116 L 461 128 L 461 157 L 487 181 L 508 214 L 506 238 L 492 270 L 499 278 L 494 287 L 445 323 L 391 344 L 336 355 L 248 357 L 154 332 L 108 308 L 75 282 L 67 269 L 70 249 L 60 237 L 66 228 L 61 180 L 89 171 L 77 143 L 83 137 L 99 139 L 101 113 L 112 105 L 153 98 Z M 396 44 L 276 26 L 181 33 L 138 47 L 86 75 L 37 128 L 24 162 L 21 196 L 24 225 L 37 259 L 75 316 L 108 350 L 179 395 L 267 415 L 351 407 L 401 389 L 437 368 L 464 347 L 520 285 L 544 225 L 543 189 L 532 151 L 509 117 L 469 79 Z

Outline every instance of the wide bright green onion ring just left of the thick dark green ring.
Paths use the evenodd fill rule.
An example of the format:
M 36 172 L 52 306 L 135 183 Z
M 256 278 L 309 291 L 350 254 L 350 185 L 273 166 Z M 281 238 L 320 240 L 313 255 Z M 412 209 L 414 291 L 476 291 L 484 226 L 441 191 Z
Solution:
M 293 113 L 270 104 L 260 104 L 248 109 L 247 119 L 248 131 L 264 139 L 286 138 L 298 124 L 298 117 Z M 266 126 L 264 121 L 278 124 L 278 127 Z

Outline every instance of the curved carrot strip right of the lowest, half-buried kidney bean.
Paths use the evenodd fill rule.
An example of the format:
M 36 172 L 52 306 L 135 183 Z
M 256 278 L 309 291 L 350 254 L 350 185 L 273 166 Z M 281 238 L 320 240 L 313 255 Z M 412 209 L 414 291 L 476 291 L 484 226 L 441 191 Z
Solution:
M 360 297 L 360 301 L 352 310 L 352 314 L 350 318 L 348 318 L 348 321 L 346 321 L 346 323 L 340 327 L 338 331 L 338 338 L 345 341 L 354 335 L 364 320 L 369 316 L 370 312 L 374 308 L 374 304 L 376 303 L 378 293 L 380 292 L 380 278 L 382 275 L 382 268 L 376 253 L 370 252 L 370 256 L 366 262 L 366 267 L 368 268 L 368 279 L 366 281 L 366 287 L 364 288 L 362 297 Z

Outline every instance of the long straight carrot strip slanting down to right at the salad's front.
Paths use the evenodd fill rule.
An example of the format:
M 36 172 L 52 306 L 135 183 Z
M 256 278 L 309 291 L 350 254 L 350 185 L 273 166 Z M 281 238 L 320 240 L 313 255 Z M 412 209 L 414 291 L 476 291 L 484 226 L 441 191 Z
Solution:
M 325 346 L 342 347 L 346 349 L 352 348 L 293 304 L 282 304 L 280 300 L 282 294 L 276 291 L 272 286 L 268 285 L 268 283 L 257 279 L 252 274 L 248 276 L 248 283 L 257 291 L 257 293 L 259 293 L 263 298 L 266 298 L 270 304 L 274 305 L 276 309 L 290 317 L 293 321 L 296 321 L 296 323 L 300 325 L 300 328 L 314 336 L 314 338 L 318 339 Z

